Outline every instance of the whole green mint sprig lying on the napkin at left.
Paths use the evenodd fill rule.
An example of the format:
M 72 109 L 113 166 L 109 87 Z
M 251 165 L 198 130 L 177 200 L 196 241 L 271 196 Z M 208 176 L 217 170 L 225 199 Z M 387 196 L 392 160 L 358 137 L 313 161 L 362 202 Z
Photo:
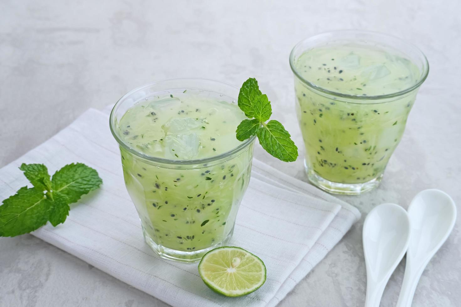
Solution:
M 43 164 L 22 164 L 19 168 L 34 186 L 23 186 L 0 206 L 0 237 L 33 232 L 50 221 L 57 226 L 69 215 L 69 204 L 101 184 L 98 172 L 83 163 L 72 163 L 50 179 Z

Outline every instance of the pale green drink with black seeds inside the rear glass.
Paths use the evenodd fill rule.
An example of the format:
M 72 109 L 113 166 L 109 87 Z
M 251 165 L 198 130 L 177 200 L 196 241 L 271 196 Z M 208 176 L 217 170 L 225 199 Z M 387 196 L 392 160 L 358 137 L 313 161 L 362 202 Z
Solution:
M 314 48 L 297 64 L 305 66 L 301 75 L 320 87 L 364 97 L 401 91 L 420 75 L 405 58 L 353 44 Z M 382 174 L 402 137 L 415 94 L 387 104 L 336 103 L 298 81 L 298 116 L 313 170 L 340 183 L 363 183 Z

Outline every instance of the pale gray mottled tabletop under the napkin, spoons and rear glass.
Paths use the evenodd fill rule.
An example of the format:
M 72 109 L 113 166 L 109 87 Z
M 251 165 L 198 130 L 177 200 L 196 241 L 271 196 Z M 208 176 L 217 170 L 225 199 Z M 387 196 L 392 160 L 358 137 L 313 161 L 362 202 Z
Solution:
M 185 76 L 236 85 L 256 77 L 272 100 L 274 117 L 300 145 L 288 65 L 291 47 L 327 30 L 369 29 L 420 46 L 431 71 L 382 185 L 342 198 L 367 213 L 383 202 L 407 207 L 418 191 L 435 187 L 461 203 L 460 11 L 457 0 L 2 0 L 0 166 L 89 107 L 102 109 L 149 81 Z M 283 164 L 260 150 L 255 156 L 305 180 L 302 159 Z M 461 306 L 460 215 L 424 272 L 414 306 Z M 363 218 L 280 306 L 362 305 L 362 224 Z M 395 305 L 402 277 L 401 264 L 381 306 Z M 24 235 L 0 239 L 0 306 L 166 305 Z

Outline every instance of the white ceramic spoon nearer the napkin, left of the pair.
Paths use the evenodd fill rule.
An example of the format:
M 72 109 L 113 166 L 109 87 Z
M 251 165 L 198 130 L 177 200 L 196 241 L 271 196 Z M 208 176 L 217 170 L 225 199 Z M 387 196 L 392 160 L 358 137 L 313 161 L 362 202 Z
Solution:
M 366 216 L 362 236 L 366 264 L 365 307 L 379 307 L 384 287 L 408 249 L 407 211 L 393 203 L 377 206 Z

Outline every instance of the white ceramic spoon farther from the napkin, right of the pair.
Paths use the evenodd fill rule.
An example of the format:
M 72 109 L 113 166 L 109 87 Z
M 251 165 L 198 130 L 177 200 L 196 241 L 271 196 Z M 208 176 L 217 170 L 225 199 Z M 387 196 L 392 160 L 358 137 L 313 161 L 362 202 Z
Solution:
M 411 201 L 408 216 L 411 237 L 397 307 L 411 306 L 421 274 L 455 225 L 455 202 L 443 191 L 424 190 Z

